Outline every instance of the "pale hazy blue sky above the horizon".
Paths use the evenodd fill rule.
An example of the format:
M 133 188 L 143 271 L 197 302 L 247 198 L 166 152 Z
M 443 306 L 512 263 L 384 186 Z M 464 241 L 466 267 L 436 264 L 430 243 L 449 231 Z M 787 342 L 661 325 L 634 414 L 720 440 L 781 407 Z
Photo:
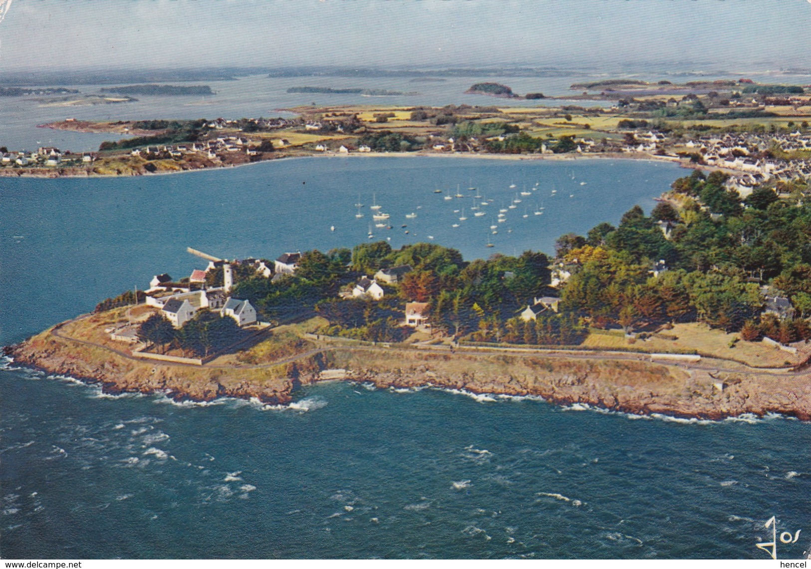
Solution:
M 0 0 L 0 5 L 10 0 Z M 811 67 L 811 0 L 11 0 L 0 71 Z

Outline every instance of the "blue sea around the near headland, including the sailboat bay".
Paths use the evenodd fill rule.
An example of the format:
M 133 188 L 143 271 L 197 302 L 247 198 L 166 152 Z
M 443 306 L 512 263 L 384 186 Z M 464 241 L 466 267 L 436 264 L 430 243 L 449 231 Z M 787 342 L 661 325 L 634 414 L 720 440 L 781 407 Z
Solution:
M 609 160 L 315 157 L 0 179 L 0 344 L 153 274 L 187 276 L 203 263 L 187 246 L 229 258 L 351 247 L 368 240 L 375 202 L 392 228 L 371 231 L 394 247 L 431 240 L 468 260 L 551 253 L 562 233 L 650 210 L 684 173 Z M 465 197 L 444 200 L 457 186 Z M 488 199 L 485 216 L 470 214 Z M 799 558 L 809 446 L 809 425 L 780 416 L 674 420 L 345 382 L 307 386 L 287 407 L 173 403 L 6 361 L 0 555 L 768 558 L 755 544 L 771 540 L 774 515 L 778 539 L 802 530 L 778 543 L 779 558 Z

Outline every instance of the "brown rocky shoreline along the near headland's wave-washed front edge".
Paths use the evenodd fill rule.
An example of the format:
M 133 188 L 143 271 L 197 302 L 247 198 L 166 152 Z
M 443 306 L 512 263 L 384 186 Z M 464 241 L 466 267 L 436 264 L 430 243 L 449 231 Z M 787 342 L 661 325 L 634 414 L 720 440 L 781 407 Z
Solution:
M 379 388 L 433 386 L 482 395 L 533 395 L 558 405 L 581 403 L 637 415 L 720 420 L 778 413 L 811 420 L 807 373 L 713 374 L 599 356 L 452 355 L 342 346 L 323 347 L 315 355 L 276 366 L 200 367 L 128 360 L 114 353 L 99 358 L 47 331 L 4 352 L 18 364 L 101 384 L 105 393 L 162 392 L 177 401 L 234 397 L 286 404 L 299 386 L 341 378 Z

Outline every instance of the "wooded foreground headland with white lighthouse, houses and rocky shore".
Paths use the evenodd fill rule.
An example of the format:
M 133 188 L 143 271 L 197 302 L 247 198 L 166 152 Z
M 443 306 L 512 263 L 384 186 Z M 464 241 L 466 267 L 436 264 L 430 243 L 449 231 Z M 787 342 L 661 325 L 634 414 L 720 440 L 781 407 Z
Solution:
M 190 248 L 207 264 L 189 276 L 156 274 L 5 353 L 109 393 L 179 400 L 277 405 L 350 380 L 811 420 L 811 265 L 791 254 L 811 207 L 770 188 L 740 200 L 726 181 L 696 170 L 650 215 L 635 206 L 616 226 L 562 235 L 554 256 L 466 261 L 386 241 L 275 260 Z

